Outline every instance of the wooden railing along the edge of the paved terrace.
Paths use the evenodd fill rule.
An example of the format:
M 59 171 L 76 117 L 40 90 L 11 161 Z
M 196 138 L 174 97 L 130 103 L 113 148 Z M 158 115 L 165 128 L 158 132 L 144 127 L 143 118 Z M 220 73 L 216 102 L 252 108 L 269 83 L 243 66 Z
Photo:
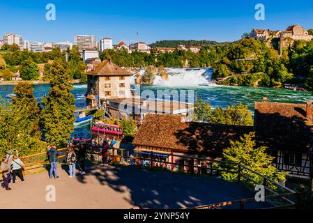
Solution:
M 63 153 L 58 157 L 59 162 L 66 160 L 67 148 L 61 148 L 58 150 L 60 153 Z M 111 164 L 123 164 L 127 166 L 139 166 L 139 167 L 148 167 L 150 169 L 159 168 L 167 169 L 168 171 L 180 171 L 186 174 L 192 175 L 204 175 L 204 176 L 221 176 L 222 172 L 237 174 L 236 181 L 238 183 L 243 183 L 252 189 L 255 185 L 263 185 L 266 190 L 265 200 L 272 203 L 270 208 L 300 208 L 300 193 L 295 192 L 280 183 L 271 180 L 266 176 L 262 176 L 257 171 L 254 171 L 248 167 L 243 166 L 242 164 L 236 162 L 227 162 L 222 160 L 210 160 L 201 157 L 195 156 L 186 156 L 186 155 L 174 155 L 185 162 L 177 163 L 160 160 L 157 158 L 155 153 L 148 153 L 148 157 L 133 157 L 130 155 L 123 155 L 125 150 L 112 148 L 111 154 L 109 154 L 109 162 Z M 96 146 L 89 146 L 87 151 L 87 159 L 91 162 L 100 162 L 100 148 Z M 120 153 L 120 154 L 119 154 Z M 168 155 L 158 153 L 159 155 Z M 46 161 L 46 153 L 38 153 L 33 155 L 27 155 L 21 158 L 22 162 L 26 165 L 26 171 L 31 169 L 36 169 L 44 167 Z M 195 165 L 194 162 L 200 163 L 200 165 Z M 206 167 L 201 164 L 206 163 Z M 40 165 L 43 164 L 43 165 Z M 158 164 L 158 165 L 157 165 Z M 162 165 L 165 164 L 165 165 Z M 219 169 L 216 164 L 227 164 L 228 169 Z M 158 167 L 157 167 L 158 166 Z M 165 167 L 164 167 L 165 166 Z M 258 176 L 259 180 L 254 180 L 251 177 L 248 177 L 247 174 L 253 174 Z M 274 186 L 274 187 L 273 187 Z M 275 188 L 275 189 L 273 189 Z M 245 204 L 249 202 L 254 202 L 255 198 L 240 199 L 235 201 L 225 201 L 222 203 L 212 203 L 204 206 L 192 207 L 193 209 L 214 209 L 222 208 L 226 206 L 239 205 L 239 208 L 245 208 Z

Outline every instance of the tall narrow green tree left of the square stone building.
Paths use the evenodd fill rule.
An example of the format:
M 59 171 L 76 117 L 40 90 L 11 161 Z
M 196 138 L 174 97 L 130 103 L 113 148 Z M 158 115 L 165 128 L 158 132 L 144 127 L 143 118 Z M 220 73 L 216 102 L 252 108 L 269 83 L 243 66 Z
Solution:
M 72 95 L 72 79 L 67 64 L 56 60 L 49 69 L 50 86 L 48 97 L 43 97 L 43 110 L 40 114 L 40 123 L 46 141 L 65 146 L 75 121 L 75 98 Z

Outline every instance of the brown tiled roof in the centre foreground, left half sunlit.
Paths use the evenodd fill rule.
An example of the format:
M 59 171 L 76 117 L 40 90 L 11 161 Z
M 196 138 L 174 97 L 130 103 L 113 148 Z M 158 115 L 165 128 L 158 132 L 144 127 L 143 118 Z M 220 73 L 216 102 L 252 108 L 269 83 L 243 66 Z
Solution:
M 239 139 L 253 130 L 245 126 L 182 122 L 183 117 L 146 115 L 132 144 L 219 156 L 229 146 L 229 139 Z

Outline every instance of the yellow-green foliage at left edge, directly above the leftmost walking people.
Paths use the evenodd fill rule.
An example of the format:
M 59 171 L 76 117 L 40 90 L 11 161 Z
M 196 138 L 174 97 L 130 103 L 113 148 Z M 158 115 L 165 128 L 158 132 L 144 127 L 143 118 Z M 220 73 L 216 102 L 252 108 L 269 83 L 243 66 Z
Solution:
M 10 149 L 20 155 L 45 151 L 45 142 L 38 138 L 38 107 L 32 91 L 30 85 L 18 84 L 13 102 L 0 97 L 0 156 Z

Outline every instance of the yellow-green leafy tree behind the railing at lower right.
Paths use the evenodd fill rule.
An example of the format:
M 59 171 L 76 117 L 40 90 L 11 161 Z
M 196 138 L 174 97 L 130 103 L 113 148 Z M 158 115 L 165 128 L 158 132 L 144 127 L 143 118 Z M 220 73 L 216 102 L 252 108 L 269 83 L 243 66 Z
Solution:
M 273 166 L 272 162 L 274 157 L 266 153 L 266 147 L 255 148 L 254 137 L 254 132 L 250 132 L 249 134 L 244 134 L 238 141 L 230 141 L 229 148 L 225 149 L 222 153 L 222 160 L 242 164 L 245 167 L 257 171 L 262 176 L 267 176 L 275 181 L 285 180 L 286 173 L 277 171 Z M 234 181 L 238 179 L 238 174 L 229 173 L 229 171 L 238 171 L 237 165 L 223 163 L 218 165 L 218 169 L 220 169 L 224 180 Z M 228 172 L 226 171 L 227 169 Z M 261 176 L 253 174 L 247 169 L 241 169 L 241 174 L 255 180 L 259 184 L 263 184 L 263 178 L 261 178 Z M 242 179 L 248 184 L 251 183 L 250 180 Z M 267 186 L 275 188 L 275 185 L 270 182 L 268 182 Z

